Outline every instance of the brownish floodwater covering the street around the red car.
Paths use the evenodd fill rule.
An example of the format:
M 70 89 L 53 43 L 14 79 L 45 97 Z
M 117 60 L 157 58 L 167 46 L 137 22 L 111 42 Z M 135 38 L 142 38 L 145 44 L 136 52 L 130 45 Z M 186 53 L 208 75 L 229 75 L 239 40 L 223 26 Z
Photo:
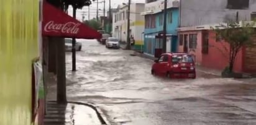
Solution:
M 111 124 L 256 124 L 256 80 L 197 79 L 150 74 L 153 61 L 132 51 L 107 49 L 85 40 L 71 72 L 66 53 L 68 100 L 98 105 Z

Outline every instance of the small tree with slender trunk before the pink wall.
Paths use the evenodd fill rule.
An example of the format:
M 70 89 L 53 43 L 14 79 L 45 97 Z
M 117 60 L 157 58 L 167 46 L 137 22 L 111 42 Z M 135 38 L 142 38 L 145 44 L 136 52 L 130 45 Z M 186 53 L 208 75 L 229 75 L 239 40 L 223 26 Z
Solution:
M 244 46 L 252 45 L 252 37 L 255 35 L 254 23 L 238 22 L 229 20 L 226 24 L 221 24 L 221 28 L 213 28 L 217 38 L 229 45 L 229 49 L 223 45 L 224 50 L 229 53 L 228 72 L 233 72 L 235 58 Z

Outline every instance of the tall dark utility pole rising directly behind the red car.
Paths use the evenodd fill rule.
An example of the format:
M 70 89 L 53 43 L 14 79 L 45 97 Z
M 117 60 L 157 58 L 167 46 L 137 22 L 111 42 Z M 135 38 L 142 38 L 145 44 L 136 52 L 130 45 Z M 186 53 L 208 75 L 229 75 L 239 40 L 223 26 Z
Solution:
M 164 2 L 163 8 L 163 51 L 162 53 L 167 52 L 167 0 Z

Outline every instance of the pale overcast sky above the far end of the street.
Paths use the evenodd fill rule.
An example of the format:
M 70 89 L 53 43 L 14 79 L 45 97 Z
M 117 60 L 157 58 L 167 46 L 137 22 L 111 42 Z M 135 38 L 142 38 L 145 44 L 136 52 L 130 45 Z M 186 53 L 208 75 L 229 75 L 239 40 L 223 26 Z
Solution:
M 92 2 L 92 4 L 90 5 L 89 9 L 90 9 L 90 14 L 89 14 L 89 17 L 90 19 L 93 19 L 93 18 L 96 18 L 96 10 L 97 10 L 97 0 L 95 0 L 94 2 Z M 103 8 L 104 8 L 104 0 L 98 0 L 99 4 L 99 9 L 101 9 L 102 11 L 99 11 L 99 17 L 100 16 L 103 16 Z M 108 11 L 109 9 L 109 0 L 105 0 L 106 1 L 106 4 L 105 4 L 105 9 L 106 9 L 106 12 Z M 111 8 L 116 8 L 119 4 L 122 4 L 122 3 L 127 3 L 128 0 L 111 0 Z M 145 0 L 131 0 L 132 3 L 144 3 Z M 68 8 L 68 14 L 69 15 L 72 15 L 72 7 L 70 6 Z M 78 20 L 82 20 L 82 14 L 85 14 L 85 20 L 88 20 L 88 7 L 83 7 L 83 9 L 78 9 L 76 11 L 76 19 Z M 107 15 L 107 14 L 105 14 Z

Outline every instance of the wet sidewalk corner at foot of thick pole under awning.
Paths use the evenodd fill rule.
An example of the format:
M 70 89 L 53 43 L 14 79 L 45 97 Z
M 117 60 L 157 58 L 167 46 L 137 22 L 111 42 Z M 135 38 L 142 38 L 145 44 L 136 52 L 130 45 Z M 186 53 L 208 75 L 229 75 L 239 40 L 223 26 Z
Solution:
M 96 112 L 85 105 L 67 103 L 59 105 L 56 101 L 47 101 L 45 125 L 101 125 Z

